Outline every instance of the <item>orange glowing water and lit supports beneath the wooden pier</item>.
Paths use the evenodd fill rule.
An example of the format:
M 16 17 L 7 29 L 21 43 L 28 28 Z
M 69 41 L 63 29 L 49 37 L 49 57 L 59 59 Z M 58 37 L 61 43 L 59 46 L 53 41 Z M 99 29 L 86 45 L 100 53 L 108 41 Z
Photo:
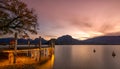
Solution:
M 0 68 L 2 69 L 52 69 L 54 64 L 54 54 L 52 48 L 41 48 L 31 50 L 19 50 L 17 55 L 14 55 L 14 51 L 1 52 Z M 16 59 L 15 59 L 16 58 Z M 16 63 L 14 63 L 16 62 Z

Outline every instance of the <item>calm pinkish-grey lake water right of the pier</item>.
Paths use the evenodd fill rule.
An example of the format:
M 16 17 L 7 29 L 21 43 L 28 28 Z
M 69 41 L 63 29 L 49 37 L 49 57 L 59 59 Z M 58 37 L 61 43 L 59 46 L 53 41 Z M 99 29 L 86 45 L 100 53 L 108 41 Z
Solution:
M 112 56 L 113 51 L 115 57 Z M 53 69 L 120 69 L 120 46 L 56 46 Z

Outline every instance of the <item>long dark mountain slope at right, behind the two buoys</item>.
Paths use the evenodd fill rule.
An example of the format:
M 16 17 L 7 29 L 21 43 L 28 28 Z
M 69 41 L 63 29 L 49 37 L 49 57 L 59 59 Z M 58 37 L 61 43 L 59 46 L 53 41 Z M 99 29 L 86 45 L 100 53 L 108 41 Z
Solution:
M 84 41 L 86 44 L 118 45 L 120 36 L 99 36 Z

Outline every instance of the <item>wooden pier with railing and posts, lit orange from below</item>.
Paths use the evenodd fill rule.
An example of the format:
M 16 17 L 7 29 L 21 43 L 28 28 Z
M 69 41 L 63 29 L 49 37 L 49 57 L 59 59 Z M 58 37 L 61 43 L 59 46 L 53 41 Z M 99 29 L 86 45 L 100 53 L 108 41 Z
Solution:
M 52 56 L 54 53 L 54 47 L 55 43 L 51 40 L 49 45 L 42 45 L 41 43 L 41 37 L 39 37 L 39 44 L 38 46 L 30 45 L 30 42 L 28 41 L 28 45 L 18 45 L 17 44 L 17 33 L 15 33 L 13 40 L 13 46 L 12 48 L 9 47 L 10 45 L 1 46 L 0 52 L 2 53 L 8 53 L 8 59 L 11 63 L 16 64 L 18 63 L 17 58 L 20 52 L 25 52 L 29 57 L 34 58 L 37 61 L 42 61 L 42 55 L 47 55 L 49 57 Z M 34 51 L 37 52 L 34 52 Z M 37 56 L 36 56 L 37 53 Z M 39 56 L 39 57 L 38 57 Z

